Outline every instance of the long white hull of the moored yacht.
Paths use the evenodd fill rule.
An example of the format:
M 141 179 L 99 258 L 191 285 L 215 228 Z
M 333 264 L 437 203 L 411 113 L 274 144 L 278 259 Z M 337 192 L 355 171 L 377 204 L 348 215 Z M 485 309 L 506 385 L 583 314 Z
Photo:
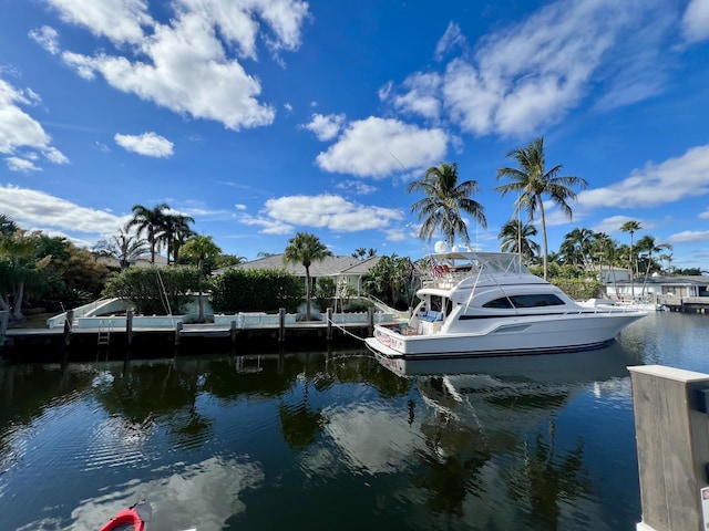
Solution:
M 389 357 L 480 357 L 598 348 L 646 312 L 595 312 L 520 316 L 490 322 L 475 333 L 405 335 L 381 325 L 367 345 Z

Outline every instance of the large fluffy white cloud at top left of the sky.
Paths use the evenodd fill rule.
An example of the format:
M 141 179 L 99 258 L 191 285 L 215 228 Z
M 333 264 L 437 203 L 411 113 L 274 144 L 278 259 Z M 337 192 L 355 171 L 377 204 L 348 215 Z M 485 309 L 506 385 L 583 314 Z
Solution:
M 93 55 L 64 51 L 79 75 L 101 74 L 120 91 L 235 131 L 268 125 L 276 112 L 258 101 L 260 82 L 230 55 L 256 59 L 258 37 L 273 53 L 297 49 L 308 14 L 297 0 L 178 0 L 163 24 L 142 0 L 48 1 L 63 21 L 116 45 Z

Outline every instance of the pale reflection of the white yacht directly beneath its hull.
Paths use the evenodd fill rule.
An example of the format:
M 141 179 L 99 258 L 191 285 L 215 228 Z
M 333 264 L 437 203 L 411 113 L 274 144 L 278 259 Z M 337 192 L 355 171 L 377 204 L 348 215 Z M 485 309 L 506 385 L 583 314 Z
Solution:
M 441 412 L 472 414 L 480 425 L 507 429 L 536 421 L 533 412 L 562 409 L 593 386 L 614 388 L 628 376 L 633 356 L 617 342 L 596 351 L 508 357 L 402 360 L 377 355 L 380 364 L 401 377 L 415 377 L 422 399 Z M 463 415 L 464 417 L 465 415 Z M 521 418 L 523 417 L 523 418 Z M 518 431 L 518 429 L 513 429 Z

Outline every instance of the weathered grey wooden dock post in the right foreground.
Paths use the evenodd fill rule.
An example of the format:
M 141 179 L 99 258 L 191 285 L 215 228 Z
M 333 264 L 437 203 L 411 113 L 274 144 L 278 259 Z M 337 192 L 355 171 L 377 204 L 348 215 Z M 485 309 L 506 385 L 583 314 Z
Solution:
M 628 367 L 638 449 L 638 531 L 706 530 L 709 521 L 709 374 Z

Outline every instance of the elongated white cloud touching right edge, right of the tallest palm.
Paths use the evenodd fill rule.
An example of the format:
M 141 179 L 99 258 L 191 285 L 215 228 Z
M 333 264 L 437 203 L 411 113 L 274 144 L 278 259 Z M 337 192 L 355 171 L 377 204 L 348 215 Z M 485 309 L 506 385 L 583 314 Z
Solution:
M 676 202 L 709 192 L 709 144 L 661 164 L 648 163 L 615 185 L 585 190 L 578 202 L 587 208 L 643 208 Z

